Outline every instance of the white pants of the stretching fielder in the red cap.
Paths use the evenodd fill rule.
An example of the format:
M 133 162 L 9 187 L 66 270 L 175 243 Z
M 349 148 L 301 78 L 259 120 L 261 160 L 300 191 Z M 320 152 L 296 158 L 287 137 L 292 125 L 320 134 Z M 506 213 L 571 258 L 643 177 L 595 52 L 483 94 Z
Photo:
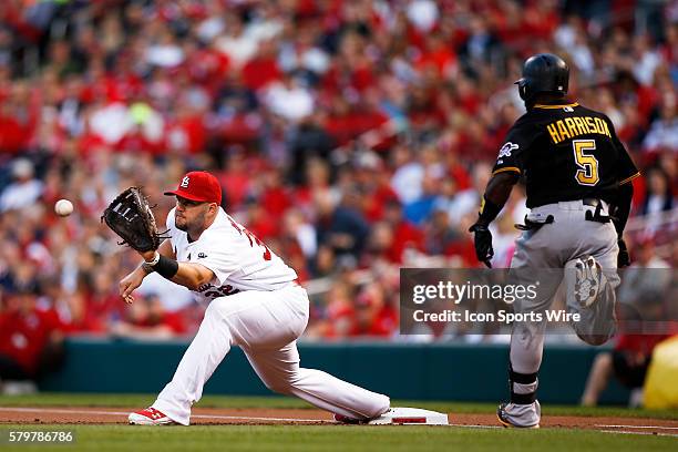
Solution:
M 308 295 L 296 284 L 214 299 L 153 408 L 188 425 L 191 407 L 201 400 L 203 387 L 230 348 L 239 346 L 273 391 L 297 396 L 323 410 L 356 419 L 386 412 L 390 405 L 387 396 L 299 367 L 296 340 L 306 329 L 308 310 Z

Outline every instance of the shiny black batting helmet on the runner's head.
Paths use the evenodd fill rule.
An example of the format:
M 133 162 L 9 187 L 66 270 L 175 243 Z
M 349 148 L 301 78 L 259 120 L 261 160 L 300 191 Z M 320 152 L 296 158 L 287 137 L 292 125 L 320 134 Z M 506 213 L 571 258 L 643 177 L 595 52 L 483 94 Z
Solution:
M 537 93 L 567 94 L 569 68 L 561 56 L 537 53 L 525 60 L 523 76 L 515 83 L 521 99 L 527 102 Z

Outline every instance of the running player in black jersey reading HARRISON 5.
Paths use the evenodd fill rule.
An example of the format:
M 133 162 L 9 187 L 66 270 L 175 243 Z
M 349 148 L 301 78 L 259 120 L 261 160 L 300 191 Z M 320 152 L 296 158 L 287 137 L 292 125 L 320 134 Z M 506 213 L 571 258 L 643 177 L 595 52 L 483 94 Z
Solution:
M 490 223 L 523 177 L 527 189 L 525 232 L 516 242 L 512 274 L 565 268 L 567 305 L 583 319 L 574 323 L 588 343 L 605 342 L 615 331 L 614 288 L 617 267 L 629 264 L 622 234 L 630 210 L 633 185 L 639 175 L 603 113 L 565 99 L 569 69 L 559 56 L 541 53 L 527 59 L 516 82 L 527 113 L 508 131 L 487 183 L 474 233 L 479 260 L 491 266 Z M 543 311 L 551 306 L 561 278 L 542 287 L 516 311 Z M 515 322 L 511 337 L 511 401 L 497 415 L 505 427 L 540 425 L 536 400 L 545 323 Z

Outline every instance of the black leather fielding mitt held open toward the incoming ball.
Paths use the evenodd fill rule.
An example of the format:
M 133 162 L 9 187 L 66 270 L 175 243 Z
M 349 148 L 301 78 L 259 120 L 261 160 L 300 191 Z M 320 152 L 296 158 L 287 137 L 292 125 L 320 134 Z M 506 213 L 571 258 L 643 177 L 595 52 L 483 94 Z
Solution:
M 137 251 L 155 250 L 164 238 L 158 234 L 148 201 L 138 187 L 130 187 L 117 195 L 101 220 L 123 239 L 119 245 L 130 245 Z

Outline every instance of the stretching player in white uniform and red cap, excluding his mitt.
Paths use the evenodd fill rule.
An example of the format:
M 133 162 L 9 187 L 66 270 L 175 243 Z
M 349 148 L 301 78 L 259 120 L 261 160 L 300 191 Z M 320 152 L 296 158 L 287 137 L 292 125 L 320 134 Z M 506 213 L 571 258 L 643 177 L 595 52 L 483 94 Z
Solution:
M 205 318 L 172 381 L 131 424 L 188 425 L 191 407 L 233 346 L 239 346 L 273 391 L 297 396 L 345 422 L 367 421 L 389 410 L 387 396 L 326 372 L 299 367 L 297 338 L 306 329 L 309 300 L 297 274 L 220 207 L 218 181 L 206 172 L 186 174 L 167 216 L 171 238 L 120 282 L 127 302 L 146 275 L 157 271 L 208 302 Z

